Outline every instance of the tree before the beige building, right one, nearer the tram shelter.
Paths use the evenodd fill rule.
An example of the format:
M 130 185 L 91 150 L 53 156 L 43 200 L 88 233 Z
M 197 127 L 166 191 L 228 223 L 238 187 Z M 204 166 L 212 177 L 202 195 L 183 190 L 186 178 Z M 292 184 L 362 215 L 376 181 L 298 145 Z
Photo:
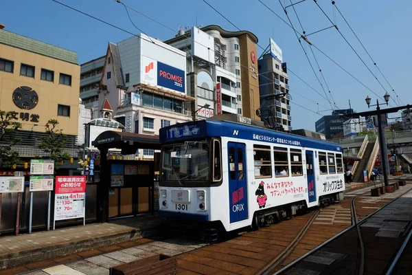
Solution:
M 47 121 L 45 130 L 47 135 L 40 137 L 38 148 L 45 151 L 49 155 L 49 159 L 54 160 L 54 168 L 57 169 L 63 159 L 70 157 L 69 153 L 63 149 L 63 146 L 67 144 L 68 138 L 62 129 L 58 129 L 57 120 Z

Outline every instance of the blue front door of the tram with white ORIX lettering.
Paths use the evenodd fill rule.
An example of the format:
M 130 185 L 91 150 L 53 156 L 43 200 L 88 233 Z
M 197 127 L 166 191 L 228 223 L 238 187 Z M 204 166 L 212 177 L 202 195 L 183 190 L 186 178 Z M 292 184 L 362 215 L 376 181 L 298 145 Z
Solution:
M 228 142 L 230 222 L 248 218 L 246 147 L 243 143 Z

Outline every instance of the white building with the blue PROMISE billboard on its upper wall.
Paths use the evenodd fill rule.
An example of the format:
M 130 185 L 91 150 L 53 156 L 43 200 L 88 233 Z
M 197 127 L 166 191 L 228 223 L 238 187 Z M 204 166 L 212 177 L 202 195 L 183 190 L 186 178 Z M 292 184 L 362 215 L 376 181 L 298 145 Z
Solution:
M 145 34 L 108 43 L 98 106 L 108 100 L 125 131 L 159 135 L 163 126 L 192 120 L 186 94 L 186 54 Z M 139 151 L 151 159 L 154 151 Z

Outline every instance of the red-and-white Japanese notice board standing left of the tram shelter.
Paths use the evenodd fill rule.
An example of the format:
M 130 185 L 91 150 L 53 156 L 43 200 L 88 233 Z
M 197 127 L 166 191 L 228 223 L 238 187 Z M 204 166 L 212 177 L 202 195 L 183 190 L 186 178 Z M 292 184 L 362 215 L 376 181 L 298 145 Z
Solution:
M 84 224 L 86 217 L 86 177 L 56 177 L 55 194 L 54 221 L 83 218 Z

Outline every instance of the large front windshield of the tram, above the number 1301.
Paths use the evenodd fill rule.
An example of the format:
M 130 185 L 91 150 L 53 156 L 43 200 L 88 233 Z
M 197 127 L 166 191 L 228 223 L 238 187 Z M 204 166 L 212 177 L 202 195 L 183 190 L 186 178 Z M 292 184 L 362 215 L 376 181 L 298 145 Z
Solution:
M 209 181 L 209 141 L 163 146 L 162 181 Z

